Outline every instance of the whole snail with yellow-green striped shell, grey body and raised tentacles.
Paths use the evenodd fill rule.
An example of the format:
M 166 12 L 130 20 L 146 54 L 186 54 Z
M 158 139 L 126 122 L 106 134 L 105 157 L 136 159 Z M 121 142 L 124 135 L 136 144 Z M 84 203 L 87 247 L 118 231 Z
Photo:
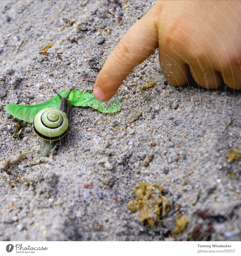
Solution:
M 42 109 L 33 119 L 33 131 L 37 137 L 43 140 L 41 156 L 49 156 L 54 147 L 55 141 L 59 141 L 67 134 L 72 115 L 71 104 L 68 100 L 71 91 L 72 89 L 66 97 L 62 97 L 54 90 L 61 100 L 58 109 Z

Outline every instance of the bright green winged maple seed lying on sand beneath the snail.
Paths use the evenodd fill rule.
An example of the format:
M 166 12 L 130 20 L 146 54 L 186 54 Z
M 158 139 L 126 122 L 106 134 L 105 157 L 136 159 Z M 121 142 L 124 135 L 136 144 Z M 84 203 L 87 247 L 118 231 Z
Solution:
M 59 93 L 62 97 L 66 97 L 69 90 Z M 97 109 L 102 113 L 114 113 L 121 110 L 121 101 L 117 98 L 112 98 L 115 104 L 110 102 L 101 102 L 95 99 L 94 95 L 89 92 L 83 92 L 79 90 L 74 90 L 70 93 L 69 101 L 72 106 L 89 106 L 93 109 Z M 60 98 L 56 95 L 51 100 L 37 104 L 37 105 L 17 105 L 8 104 L 5 110 L 10 114 L 15 116 L 17 119 L 23 120 L 28 123 L 32 123 L 35 115 L 42 109 L 45 108 L 58 108 Z

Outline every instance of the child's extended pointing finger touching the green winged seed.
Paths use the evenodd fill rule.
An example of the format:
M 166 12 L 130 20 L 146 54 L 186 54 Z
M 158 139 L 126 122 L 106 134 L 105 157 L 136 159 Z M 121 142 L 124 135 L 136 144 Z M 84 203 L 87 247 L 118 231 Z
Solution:
M 150 10 L 122 37 L 99 72 L 94 86 L 95 98 L 109 100 L 133 68 L 158 47 L 157 11 Z

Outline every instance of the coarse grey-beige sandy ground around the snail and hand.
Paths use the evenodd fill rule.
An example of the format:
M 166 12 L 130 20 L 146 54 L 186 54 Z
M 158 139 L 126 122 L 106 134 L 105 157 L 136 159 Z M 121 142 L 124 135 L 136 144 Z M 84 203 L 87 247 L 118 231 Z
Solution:
M 124 81 L 120 112 L 73 108 L 53 157 L 39 157 L 31 124 L 12 140 L 8 103 L 41 103 L 53 88 L 91 92 L 111 50 L 153 1 L 83 3 L 0 2 L 0 240 L 186 241 L 197 231 L 196 240 L 240 240 L 241 161 L 227 164 L 227 155 L 241 151 L 241 95 L 169 85 L 158 50 Z M 49 55 L 39 55 L 49 43 Z M 155 87 L 143 96 L 138 88 L 150 80 Z M 170 210 L 152 227 L 127 208 L 140 182 L 167 191 Z M 189 223 L 174 235 L 177 216 Z

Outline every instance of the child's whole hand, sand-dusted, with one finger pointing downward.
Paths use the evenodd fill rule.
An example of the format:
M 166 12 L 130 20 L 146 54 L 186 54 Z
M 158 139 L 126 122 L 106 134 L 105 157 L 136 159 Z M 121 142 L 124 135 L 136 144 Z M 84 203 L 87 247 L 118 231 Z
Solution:
M 98 100 L 109 100 L 133 68 L 159 47 L 173 85 L 192 76 L 202 87 L 241 89 L 241 2 L 158 1 L 124 35 L 99 72 Z

